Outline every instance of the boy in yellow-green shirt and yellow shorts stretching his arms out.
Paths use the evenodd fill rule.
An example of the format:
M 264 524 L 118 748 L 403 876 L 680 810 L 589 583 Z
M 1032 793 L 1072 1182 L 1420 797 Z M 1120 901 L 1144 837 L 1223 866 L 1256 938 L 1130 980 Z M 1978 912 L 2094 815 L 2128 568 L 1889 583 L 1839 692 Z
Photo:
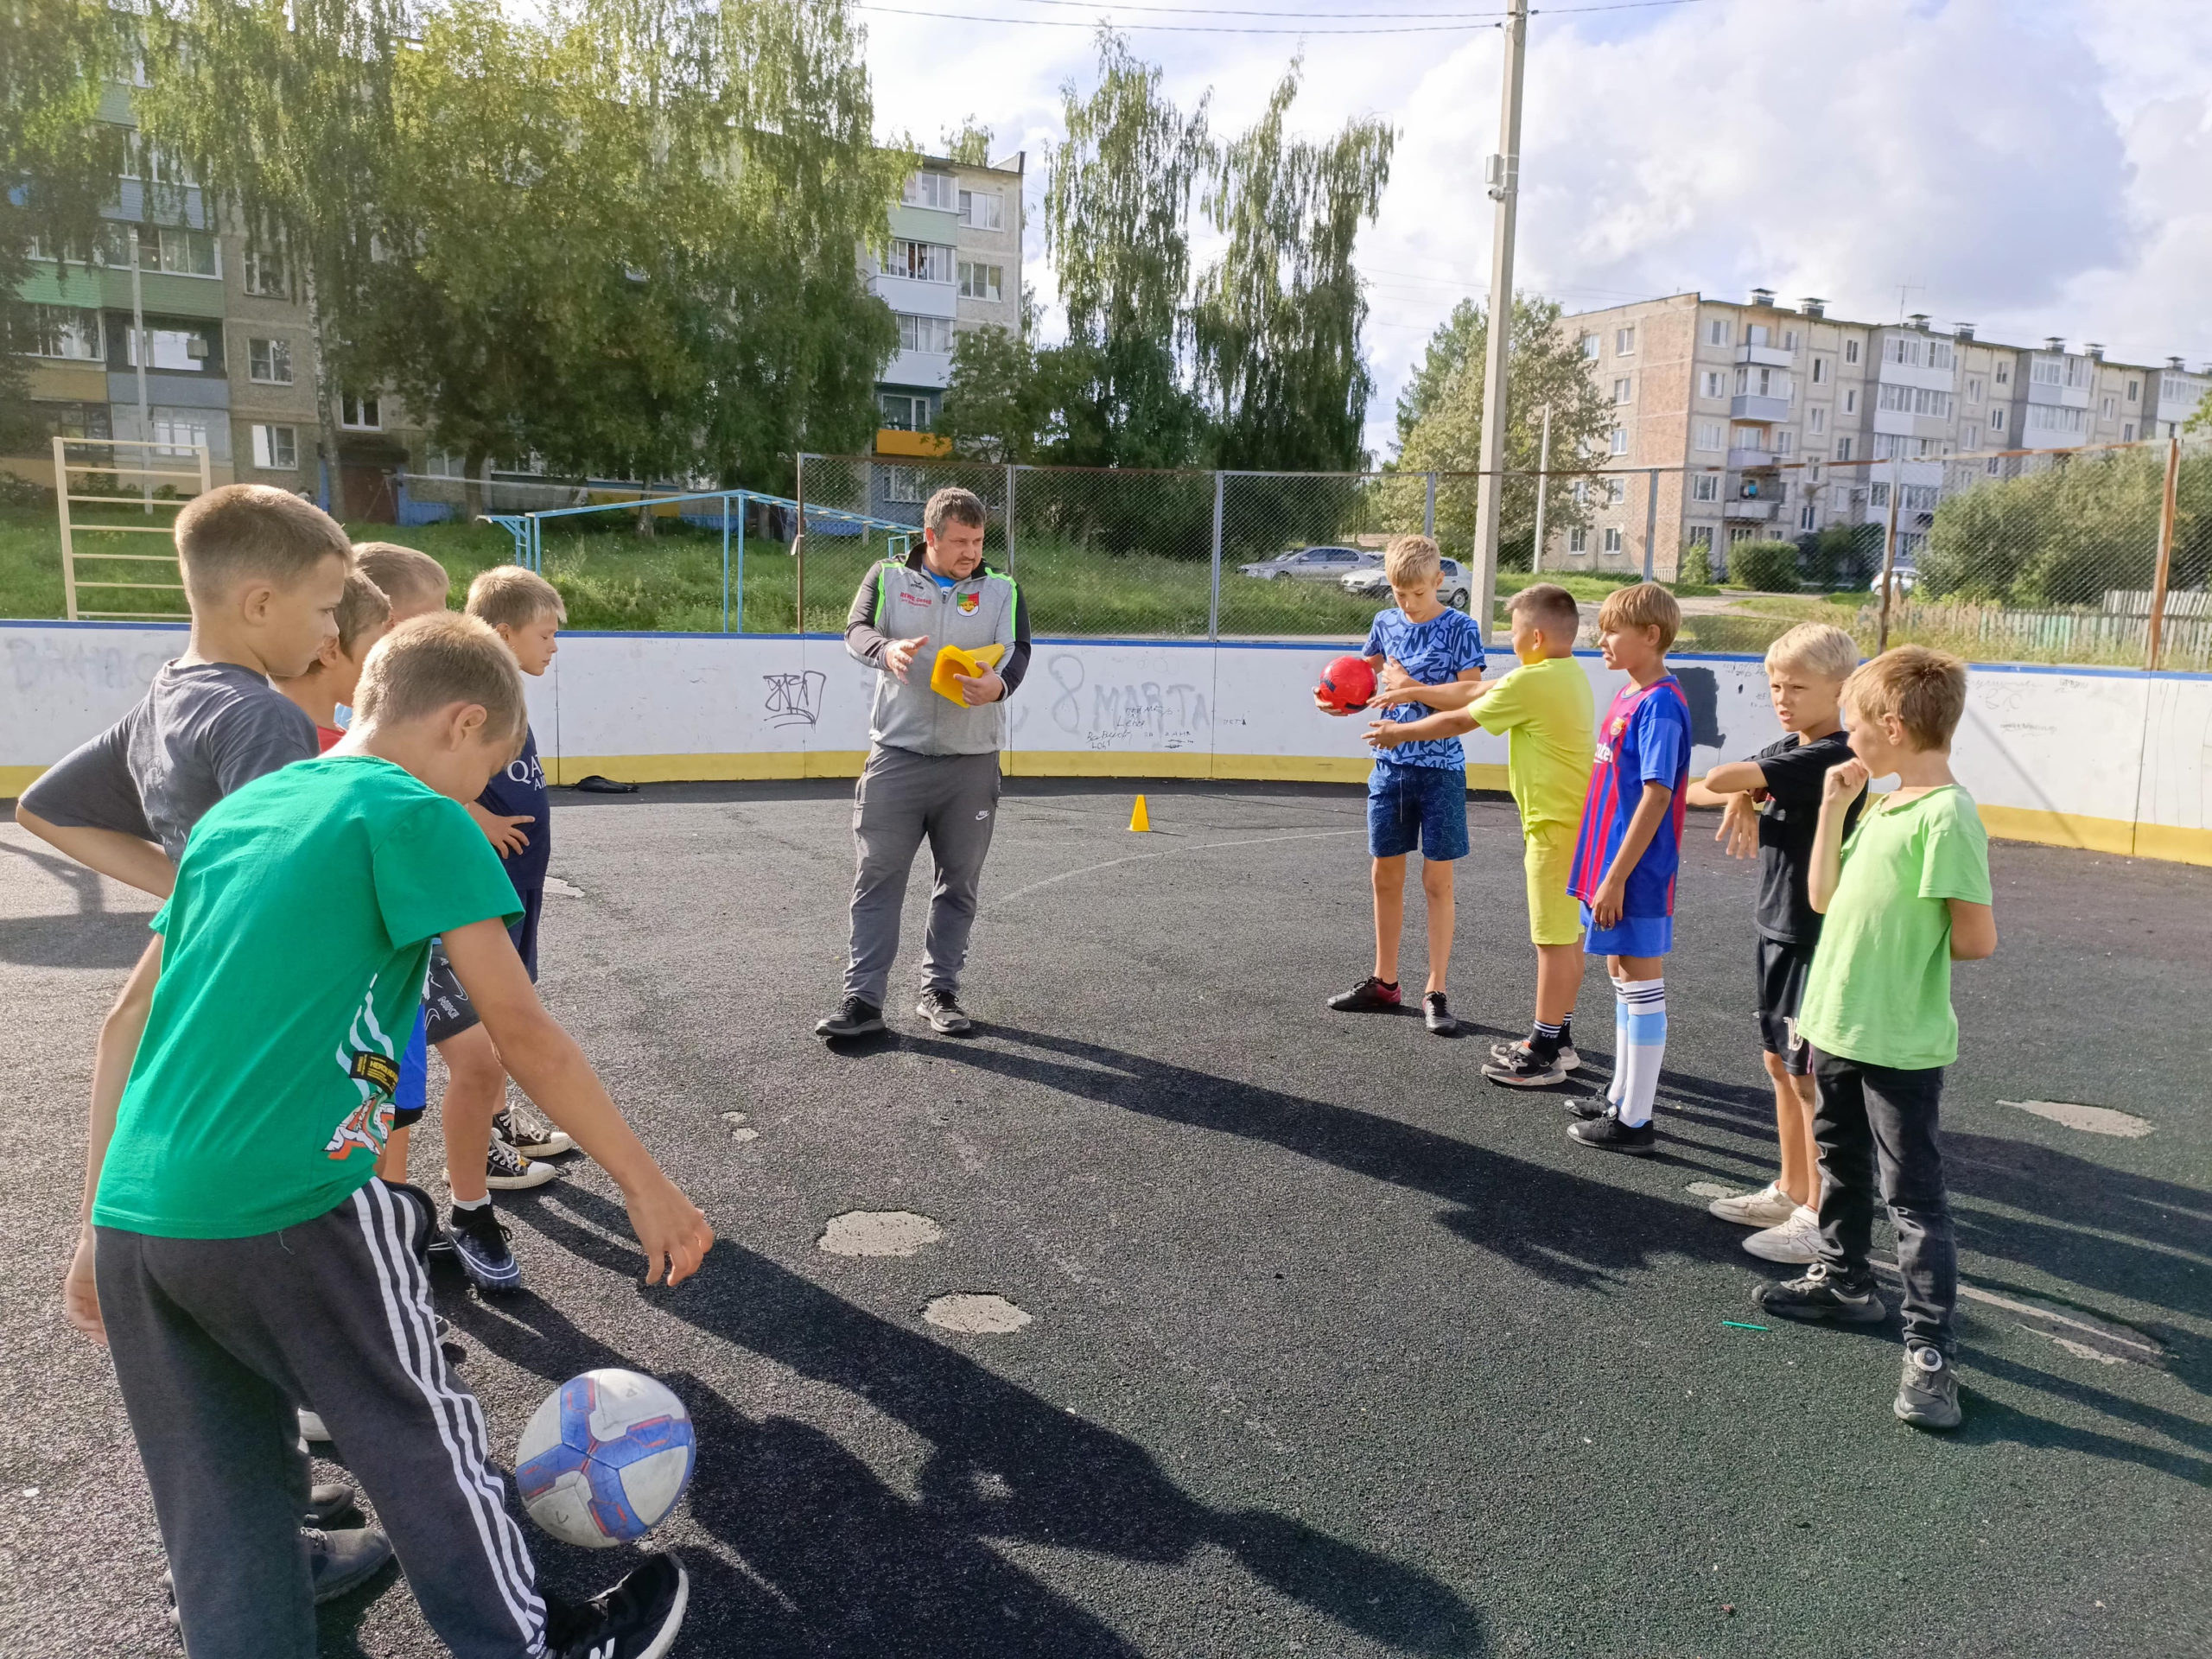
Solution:
M 1478 726 L 1509 739 L 1506 783 L 1522 814 L 1528 938 L 1535 942 L 1535 1022 L 1524 1040 L 1493 1046 L 1482 1075 L 1533 1088 L 1564 1082 L 1582 1064 L 1571 1031 L 1582 984 L 1582 907 L 1566 891 L 1566 880 L 1597 750 L 1597 706 L 1590 677 L 1575 661 L 1582 626 L 1575 595 L 1537 582 L 1515 593 L 1509 611 L 1520 668 L 1504 679 L 1447 686 L 1418 686 L 1385 672 L 1378 706 L 1409 701 L 1438 712 L 1418 721 L 1378 721 L 1367 741 L 1387 750 L 1427 737 L 1458 737 Z

